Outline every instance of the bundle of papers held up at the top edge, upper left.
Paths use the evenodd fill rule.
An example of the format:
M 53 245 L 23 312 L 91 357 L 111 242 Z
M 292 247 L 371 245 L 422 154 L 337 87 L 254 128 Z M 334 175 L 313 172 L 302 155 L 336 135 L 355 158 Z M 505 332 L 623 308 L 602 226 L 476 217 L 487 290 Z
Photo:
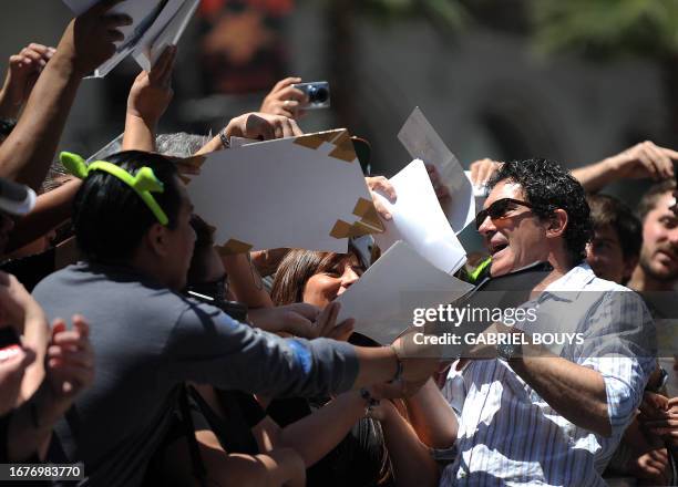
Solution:
M 63 1 L 80 15 L 101 0 Z M 126 0 L 113 7 L 111 13 L 125 13 L 133 23 L 119 28 L 125 39 L 116 43 L 115 54 L 94 71 L 93 77 L 105 76 L 130 54 L 148 71 L 167 45 L 178 42 L 198 4 L 199 0 Z

